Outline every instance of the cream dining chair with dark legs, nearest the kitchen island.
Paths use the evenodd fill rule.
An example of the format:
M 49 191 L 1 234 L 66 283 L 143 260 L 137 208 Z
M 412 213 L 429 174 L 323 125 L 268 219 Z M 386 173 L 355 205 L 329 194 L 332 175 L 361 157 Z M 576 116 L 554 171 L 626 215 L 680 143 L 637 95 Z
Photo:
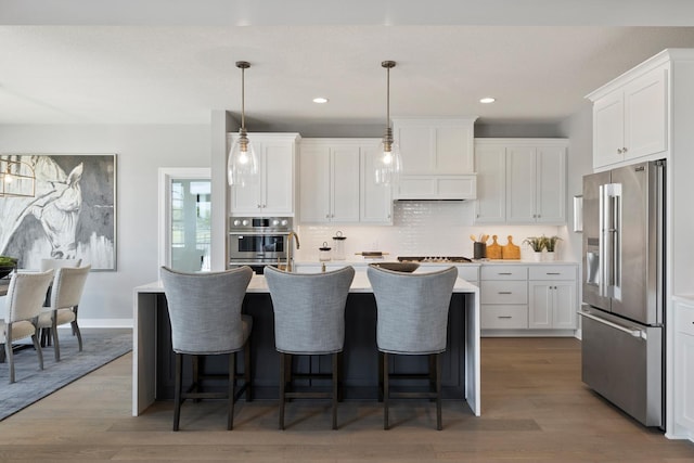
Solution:
M 79 351 L 82 351 L 82 334 L 77 323 L 77 310 L 82 297 L 87 275 L 91 266 L 57 267 L 54 270 L 53 284 L 50 288 L 49 307 L 43 307 L 39 314 L 37 327 L 43 333 L 50 333 L 53 338 L 55 361 L 61 361 L 61 346 L 57 338 L 57 326 L 69 323 L 73 336 L 77 336 Z M 43 343 L 41 343 L 43 345 Z

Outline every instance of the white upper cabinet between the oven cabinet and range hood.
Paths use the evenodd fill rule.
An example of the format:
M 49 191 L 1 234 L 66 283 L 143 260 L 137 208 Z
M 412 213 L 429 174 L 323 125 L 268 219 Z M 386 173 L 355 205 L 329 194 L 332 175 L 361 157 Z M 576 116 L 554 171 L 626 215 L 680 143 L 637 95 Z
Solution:
M 301 140 L 301 222 L 393 223 L 390 188 L 375 184 L 371 166 L 371 154 L 378 142 L 378 139 Z

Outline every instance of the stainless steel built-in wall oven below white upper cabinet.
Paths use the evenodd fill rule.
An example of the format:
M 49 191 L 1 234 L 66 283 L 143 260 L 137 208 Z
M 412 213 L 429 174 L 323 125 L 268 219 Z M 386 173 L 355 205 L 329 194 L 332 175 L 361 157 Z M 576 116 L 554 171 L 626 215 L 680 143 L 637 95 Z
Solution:
M 293 234 L 291 217 L 231 217 L 229 266 L 250 266 L 262 273 L 266 265 L 287 265 Z

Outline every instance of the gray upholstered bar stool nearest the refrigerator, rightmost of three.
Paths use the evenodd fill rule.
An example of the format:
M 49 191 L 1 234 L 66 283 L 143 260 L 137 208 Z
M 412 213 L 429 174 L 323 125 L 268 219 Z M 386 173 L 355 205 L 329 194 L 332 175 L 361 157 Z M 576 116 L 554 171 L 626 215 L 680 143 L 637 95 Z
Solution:
M 450 267 L 429 273 L 402 273 L 369 266 L 369 281 L 376 298 L 376 345 L 378 387 L 383 395 L 383 428 L 388 429 L 388 407 L 393 398 L 436 399 L 436 428 L 441 429 L 441 352 L 446 350 L 448 309 L 458 269 Z M 390 355 L 429 356 L 426 375 L 389 373 Z M 389 390 L 390 377 L 423 377 L 434 391 Z

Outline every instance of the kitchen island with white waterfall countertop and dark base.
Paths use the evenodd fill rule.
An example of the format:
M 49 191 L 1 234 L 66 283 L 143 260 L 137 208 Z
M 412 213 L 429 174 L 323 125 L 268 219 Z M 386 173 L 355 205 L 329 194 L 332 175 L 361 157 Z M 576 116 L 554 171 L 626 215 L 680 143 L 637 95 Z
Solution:
M 142 413 L 155 400 L 172 398 L 172 352 L 166 297 L 160 282 L 134 288 L 133 293 L 132 414 Z M 253 317 L 252 365 L 255 397 L 275 399 L 279 355 L 270 292 L 262 275 L 254 275 L 244 299 L 244 312 Z M 345 399 L 375 400 L 377 396 L 376 309 L 365 271 L 358 271 L 345 311 Z M 475 415 L 480 413 L 479 290 L 458 279 L 449 311 L 448 349 L 442 365 L 447 398 L 465 399 Z M 316 358 L 299 369 L 322 370 Z M 396 369 L 414 372 L 426 358 L 401 356 Z M 226 362 L 220 362 L 223 364 Z M 213 369 L 216 366 L 210 363 Z

